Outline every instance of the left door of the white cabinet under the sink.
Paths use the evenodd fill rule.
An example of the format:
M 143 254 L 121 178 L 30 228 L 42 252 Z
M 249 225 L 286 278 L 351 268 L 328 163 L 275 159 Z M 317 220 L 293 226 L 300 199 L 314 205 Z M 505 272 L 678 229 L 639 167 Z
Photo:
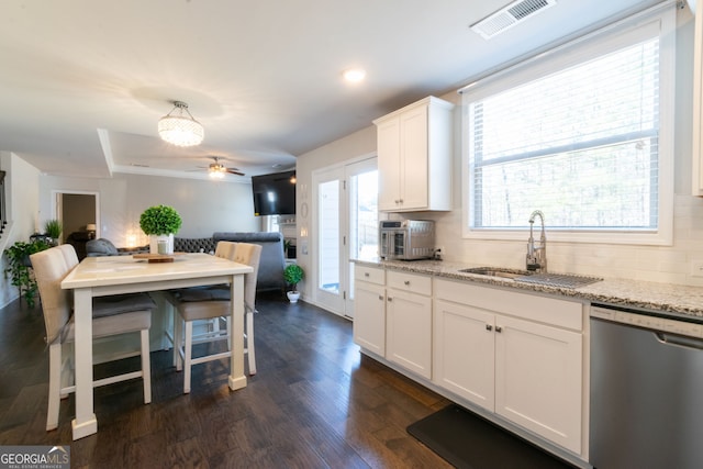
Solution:
M 433 381 L 487 410 L 494 409 L 494 315 L 436 300 Z

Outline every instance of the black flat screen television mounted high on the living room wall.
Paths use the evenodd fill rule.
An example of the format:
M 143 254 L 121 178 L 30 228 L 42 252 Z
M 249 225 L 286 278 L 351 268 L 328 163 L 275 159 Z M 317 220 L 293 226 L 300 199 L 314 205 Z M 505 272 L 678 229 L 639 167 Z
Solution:
M 252 176 L 254 215 L 295 214 L 295 171 Z

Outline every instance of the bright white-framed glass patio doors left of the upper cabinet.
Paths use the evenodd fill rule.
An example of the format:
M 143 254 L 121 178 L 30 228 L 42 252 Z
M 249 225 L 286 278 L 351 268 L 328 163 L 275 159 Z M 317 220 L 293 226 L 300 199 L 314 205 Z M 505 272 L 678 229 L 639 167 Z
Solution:
M 378 256 L 377 158 L 313 174 L 317 246 L 314 288 L 321 306 L 354 315 L 352 259 Z

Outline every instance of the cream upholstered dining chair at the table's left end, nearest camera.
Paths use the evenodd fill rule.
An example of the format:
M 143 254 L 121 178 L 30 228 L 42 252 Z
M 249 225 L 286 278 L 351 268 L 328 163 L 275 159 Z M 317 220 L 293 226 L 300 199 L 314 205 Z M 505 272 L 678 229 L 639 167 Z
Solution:
M 70 245 L 68 246 L 72 249 Z M 58 426 L 60 398 L 75 392 L 72 377 L 63 380 L 71 370 L 70 357 L 64 357 L 64 345 L 74 342 L 74 319 L 69 290 L 60 287 L 62 280 L 74 266 L 74 256 L 66 247 L 52 247 L 30 256 L 36 278 L 44 313 L 46 344 L 49 354 L 48 410 L 46 429 Z M 72 253 L 75 255 L 75 252 Z M 77 259 L 77 257 L 76 257 Z M 77 263 L 76 263 L 77 264 Z M 119 294 L 93 299 L 92 335 L 93 338 L 136 333 L 141 335 L 142 364 L 138 371 L 111 376 L 93 381 L 93 387 L 111 384 L 129 379 L 142 378 L 144 381 L 144 403 L 152 402 L 152 380 L 149 362 L 149 327 L 152 310 L 156 304 L 145 293 Z M 66 383 L 67 386 L 64 386 Z

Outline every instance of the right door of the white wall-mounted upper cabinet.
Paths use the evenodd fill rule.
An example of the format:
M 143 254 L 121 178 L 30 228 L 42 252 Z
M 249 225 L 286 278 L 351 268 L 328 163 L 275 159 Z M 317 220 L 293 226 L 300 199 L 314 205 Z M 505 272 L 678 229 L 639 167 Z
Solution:
M 428 204 L 427 105 L 400 116 L 400 199 L 403 210 L 426 209 Z

